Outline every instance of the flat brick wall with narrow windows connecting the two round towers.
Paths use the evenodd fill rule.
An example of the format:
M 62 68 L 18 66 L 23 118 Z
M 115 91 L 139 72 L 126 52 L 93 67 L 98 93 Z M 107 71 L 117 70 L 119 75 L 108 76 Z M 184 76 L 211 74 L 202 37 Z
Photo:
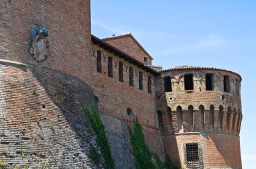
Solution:
M 97 50 L 101 51 L 102 54 L 102 72 L 97 72 L 96 68 Z M 130 152 L 127 124 L 133 122 L 133 117 L 135 116 L 138 117 L 139 122 L 143 126 L 146 142 L 150 145 L 150 150 L 160 154 L 161 158 L 164 158 L 162 140 L 160 139 L 160 132 L 156 125 L 154 74 L 131 64 L 131 62 L 128 62 L 124 58 L 115 56 L 115 54 L 104 50 L 104 48 L 100 48 L 98 45 L 93 45 L 92 51 L 92 63 L 94 63 L 92 64 L 94 94 L 99 99 L 98 110 L 104 114 L 102 120 L 108 132 L 110 145 L 113 146 L 116 165 L 123 166 L 124 161 L 119 160 L 121 158 L 120 156 L 127 156 L 127 154 L 117 154 L 116 151 L 120 149 L 120 146 L 127 149 L 124 152 Z M 113 58 L 113 78 L 108 76 L 108 57 Z M 123 62 L 123 82 L 119 81 L 119 62 Z M 134 71 L 133 87 L 129 86 L 129 67 L 133 67 Z M 139 72 L 143 73 L 143 91 L 139 90 Z M 152 77 L 152 94 L 148 93 L 148 76 Z M 133 115 L 129 116 L 127 114 L 128 108 L 132 109 Z M 115 119 L 113 121 L 117 122 L 106 122 L 110 121 L 110 119 Z M 125 137 L 128 142 L 124 142 L 125 145 L 122 142 L 117 144 L 115 139 L 119 137 L 120 140 Z

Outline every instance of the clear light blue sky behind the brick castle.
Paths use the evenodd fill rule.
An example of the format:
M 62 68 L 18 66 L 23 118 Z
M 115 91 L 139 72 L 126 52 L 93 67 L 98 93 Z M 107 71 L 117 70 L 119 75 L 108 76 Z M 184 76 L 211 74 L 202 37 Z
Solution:
M 243 168 L 256 168 L 256 1 L 92 0 L 91 6 L 92 34 L 131 33 L 154 65 L 214 66 L 241 74 Z

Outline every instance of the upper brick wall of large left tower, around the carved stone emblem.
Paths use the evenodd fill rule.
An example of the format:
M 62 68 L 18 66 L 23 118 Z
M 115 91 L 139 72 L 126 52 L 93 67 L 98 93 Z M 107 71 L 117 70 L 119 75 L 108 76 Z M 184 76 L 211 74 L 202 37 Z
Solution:
M 90 84 L 90 0 L 3 0 L 0 7 L 1 59 L 45 66 Z M 32 24 L 49 30 L 49 56 L 44 62 L 30 54 Z

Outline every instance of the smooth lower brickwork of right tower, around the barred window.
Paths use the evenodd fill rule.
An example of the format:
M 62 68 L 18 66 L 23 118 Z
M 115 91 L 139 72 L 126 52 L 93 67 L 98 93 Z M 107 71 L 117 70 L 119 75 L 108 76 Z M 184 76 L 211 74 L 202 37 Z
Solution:
M 183 143 L 199 142 L 203 150 L 204 168 L 242 168 L 240 140 L 236 135 L 199 134 L 165 135 L 166 153 L 177 166 L 185 167 Z

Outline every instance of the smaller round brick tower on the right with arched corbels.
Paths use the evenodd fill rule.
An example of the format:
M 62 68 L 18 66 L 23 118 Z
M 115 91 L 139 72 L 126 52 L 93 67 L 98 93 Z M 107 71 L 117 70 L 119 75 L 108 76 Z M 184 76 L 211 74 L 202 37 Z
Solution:
M 242 168 L 241 76 L 178 66 L 158 79 L 158 122 L 172 161 L 183 168 Z

